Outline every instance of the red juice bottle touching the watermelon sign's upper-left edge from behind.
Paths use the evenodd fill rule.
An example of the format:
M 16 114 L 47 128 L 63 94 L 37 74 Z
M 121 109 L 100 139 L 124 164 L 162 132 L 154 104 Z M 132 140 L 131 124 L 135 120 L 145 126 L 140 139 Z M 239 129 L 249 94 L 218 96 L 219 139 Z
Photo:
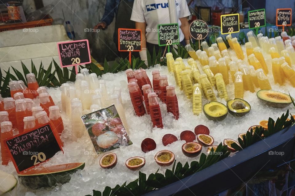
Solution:
M 15 100 L 15 116 L 18 124 L 18 132 L 24 132 L 24 117 L 29 116 L 26 101 L 24 99 Z

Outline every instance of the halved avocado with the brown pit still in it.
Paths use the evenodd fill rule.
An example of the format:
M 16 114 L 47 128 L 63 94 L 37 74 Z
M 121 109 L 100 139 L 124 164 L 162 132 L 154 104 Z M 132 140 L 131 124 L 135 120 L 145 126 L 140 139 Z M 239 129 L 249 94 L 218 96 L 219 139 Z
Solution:
M 245 116 L 251 110 L 250 104 L 243 99 L 228 100 L 228 112 L 233 116 Z

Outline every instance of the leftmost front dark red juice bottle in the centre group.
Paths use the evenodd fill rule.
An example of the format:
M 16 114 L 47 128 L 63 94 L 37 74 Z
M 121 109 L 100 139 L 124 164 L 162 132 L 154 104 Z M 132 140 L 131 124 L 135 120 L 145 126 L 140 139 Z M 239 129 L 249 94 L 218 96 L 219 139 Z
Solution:
M 144 116 L 145 109 L 144 109 L 144 103 L 143 103 L 143 98 L 142 98 L 140 89 L 137 88 L 135 82 L 130 82 L 128 84 L 128 89 L 129 89 L 130 98 L 131 98 L 132 105 L 136 115 Z

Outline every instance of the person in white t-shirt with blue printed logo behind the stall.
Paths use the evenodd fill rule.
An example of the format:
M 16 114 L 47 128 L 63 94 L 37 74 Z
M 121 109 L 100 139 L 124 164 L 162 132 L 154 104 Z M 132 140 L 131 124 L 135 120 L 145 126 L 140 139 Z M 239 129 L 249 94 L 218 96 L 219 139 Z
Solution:
M 189 44 L 190 33 L 187 17 L 191 14 L 186 0 L 176 0 L 176 12 L 179 18 L 179 41 L 181 44 Z M 136 29 L 142 32 L 141 60 L 147 62 L 146 50 L 152 54 L 155 47 L 156 53 L 159 51 L 158 25 L 169 24 L 169 8 L 167 0 L 135 0 L 133 4 L 131 20 L 135 21 Z M 164 47 L 165 48 L 165 47 Z M 162 50 L 164 51 L 164 49 Z

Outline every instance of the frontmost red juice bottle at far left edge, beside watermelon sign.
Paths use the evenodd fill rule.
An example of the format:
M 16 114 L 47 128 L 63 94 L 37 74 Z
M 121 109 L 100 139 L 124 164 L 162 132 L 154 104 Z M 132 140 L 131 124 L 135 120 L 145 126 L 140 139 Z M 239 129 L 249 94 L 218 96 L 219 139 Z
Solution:
M 1 123 L 1 159 L 2 165 L 8 165 L 11 160 L 9 156 L 9 149 L 6 148 L 4 140 L 13 137 L 12 123 L 10 121 L 4 121 Z

